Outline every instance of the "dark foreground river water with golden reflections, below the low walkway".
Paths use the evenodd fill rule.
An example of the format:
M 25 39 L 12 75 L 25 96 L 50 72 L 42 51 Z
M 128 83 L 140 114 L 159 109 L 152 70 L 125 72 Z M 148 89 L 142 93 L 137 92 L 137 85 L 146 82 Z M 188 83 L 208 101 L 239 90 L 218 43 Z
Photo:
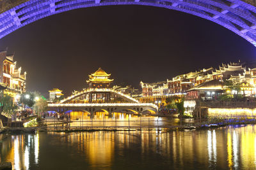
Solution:
M 0 162 L 13 169 L 256 169 L 255 128 L 10 135 Z

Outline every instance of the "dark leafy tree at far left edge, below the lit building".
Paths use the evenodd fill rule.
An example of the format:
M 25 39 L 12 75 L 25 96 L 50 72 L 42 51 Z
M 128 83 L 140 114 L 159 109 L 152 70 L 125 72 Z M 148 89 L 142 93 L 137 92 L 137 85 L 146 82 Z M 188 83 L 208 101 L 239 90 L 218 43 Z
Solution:
M 0 115 L 3 113 L 6 115 L 13 115 L 16 113 L 17 105 L 13 102 L 13 97 L 0 92 Z M 2 120 L 0 118 L 0 127 L 3 127 Z

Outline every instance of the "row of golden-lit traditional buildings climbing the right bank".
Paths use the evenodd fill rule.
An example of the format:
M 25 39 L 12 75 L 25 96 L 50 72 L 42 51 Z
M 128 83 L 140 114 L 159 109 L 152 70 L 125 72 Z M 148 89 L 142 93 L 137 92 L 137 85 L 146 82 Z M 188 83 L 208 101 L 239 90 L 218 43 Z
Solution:
M 240 93 L 244 96 L 256 94 L 256 68 L 250 69 L 241 62 L 221 64 L 218 68 L 201 69 L 200 71 L 181 74 L 170 80 L 157 83 L 143 83 L 141 81 L 140 85 L 143 97 L 180 95 L 188 92 L 189 97 L 195 96 L 197 98 L 204 96 L 206 99 L 216 96 L 217 93 L 220 94 L 221 90 L 225 89 L 225 86 L 221 85 L 220 89 L 220 85 L 218 85 L 219 89 L 216 89 L 216 82 L 220 81 L 223 83 L 225 80 L 240 83 Z M 211 83 L 208 82 L 213 84 L 210 85 Z M 204 89 L 205 87 L 206 89 Z

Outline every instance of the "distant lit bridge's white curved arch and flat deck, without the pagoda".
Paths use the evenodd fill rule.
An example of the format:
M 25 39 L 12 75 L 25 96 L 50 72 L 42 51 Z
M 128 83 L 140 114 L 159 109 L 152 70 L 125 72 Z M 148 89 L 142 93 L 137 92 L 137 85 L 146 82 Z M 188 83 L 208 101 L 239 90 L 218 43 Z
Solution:
M 111 96 L 116 96 L 124 99 L 125 103 L 72 103 L 72 100 L 76 100 L 86 96 L 90 93 L 106 93 L 109 92 Z M 81 101 L 81 100 L 80 100 Z M 83 101 L 83 100 L 82 100 Z M 77 101 L 76 101 L 77 102 Z M 57 111 L 58 113 L 63 113 L 68 110 L 79 110 L 89 113 L 93 117 L 95 112 L 104 111 L 111 115 L 116 112 L 125 113 L 157 113 L 158 108 L 156 104 L 152 103 L 139 103 L 136 99 L 129 97 L 120 92 L 116 92 L 112 89 L 84 89 L 81 92 L 77 92 L 72 96 L 69 96 L 56 104 L 48 104 L 48 108 L 51 111 Z

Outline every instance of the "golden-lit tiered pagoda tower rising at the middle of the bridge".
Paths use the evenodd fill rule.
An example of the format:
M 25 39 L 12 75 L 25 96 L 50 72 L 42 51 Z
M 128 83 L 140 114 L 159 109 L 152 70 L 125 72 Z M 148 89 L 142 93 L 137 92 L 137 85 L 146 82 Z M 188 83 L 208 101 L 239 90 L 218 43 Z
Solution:
M 95 73 L 89 75 L 89 80 L 86 82 L 90 89 L 110 89 L 110 83 L 113 79 L 109 79 L 111 74 L 106 73 L 103 69 L 99 67 Z M 88 95 L 90 103 L 108 103 L 110 101 L 110 92 L 90 92 Z

